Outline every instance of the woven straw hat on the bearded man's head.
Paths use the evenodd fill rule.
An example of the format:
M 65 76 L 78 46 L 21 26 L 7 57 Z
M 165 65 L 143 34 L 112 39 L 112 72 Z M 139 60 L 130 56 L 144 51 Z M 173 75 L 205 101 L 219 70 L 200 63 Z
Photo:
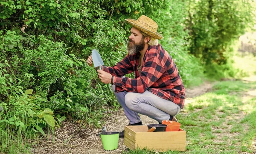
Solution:
M 154 20 L 150 19 L 147 16 L 140 16 L 139 19 L 125 19 L 129 24 L 133 27 L 143 31 L 145 34 L 155 38 L 155 39 L 163 39 L 163 36 L 157 33 L 157 23 Z

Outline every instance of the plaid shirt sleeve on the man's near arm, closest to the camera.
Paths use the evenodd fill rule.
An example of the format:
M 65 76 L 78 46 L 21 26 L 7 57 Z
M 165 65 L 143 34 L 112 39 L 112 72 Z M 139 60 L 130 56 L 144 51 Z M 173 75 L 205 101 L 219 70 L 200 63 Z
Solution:
M 164 64 L 160 62 L 155 54 L 152 54 L 152 56 L 145 60 L 144 67 L 141 70 L 141 76 L 134 79 L 114 77 L 113 84 L 122 87 L 122 90 L 117 92 L 125 90 L 127 92 L 143 93 L 148 87 L 151 87 L 165 71 Z

